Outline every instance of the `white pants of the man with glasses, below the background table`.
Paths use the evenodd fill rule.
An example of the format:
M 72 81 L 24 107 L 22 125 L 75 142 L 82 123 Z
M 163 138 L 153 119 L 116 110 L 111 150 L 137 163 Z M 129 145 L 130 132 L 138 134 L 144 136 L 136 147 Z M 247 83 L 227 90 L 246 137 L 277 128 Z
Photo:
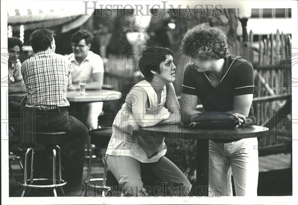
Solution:
M 103 102 L 86 103 L 83 105 L 84 124 L 89 130 L 97 129 L 98 115 L 103 110 Z

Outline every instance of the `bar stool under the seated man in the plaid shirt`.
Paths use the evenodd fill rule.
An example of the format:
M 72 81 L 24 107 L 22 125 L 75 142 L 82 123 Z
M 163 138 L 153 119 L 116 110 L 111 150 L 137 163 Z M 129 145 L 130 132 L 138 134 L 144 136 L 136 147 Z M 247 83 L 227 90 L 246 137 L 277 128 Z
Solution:
M 31 133 L 32 134 L 32 133 Z M 35 132 L 35 146 L 27 149 L 25 155 L 25 165 L 24 165 L 24 181 L 19 182 L 21 186 L 24 187 L 24 190 L 21 194 L 21 197 L 25 195 L 25 192 L 28 188 L 28 192 L 30 188 L 52 188 L 54 196 L 57 197 L 56 188 L 59 187 L 63 196 L 65 196 L 63 187 L 67 182 L 61 179 L 61 151 L 58 144 L 63 143 L 64 140 L 68 138 L 68 134 L 66 132 Z M 37 145 L 45 145 L 52 149 L 53 152 L 53 178 L 52 179 L 33 179 L 33 161 L 34 161 L 34 151 L 38 150 Z M 40 149 L 40 148 L 39 148 Z M 31 157 L 31 172 L 30 179 L 27 179 L 28 172 L 28 154 L 32 152 Z M 58 177 L 56 176 L 56 155 L 58 152 Z M 51 182 L 52 181 L 52 182 Z M 47 182 L 47 185 L 38 185 L 38 182 Z

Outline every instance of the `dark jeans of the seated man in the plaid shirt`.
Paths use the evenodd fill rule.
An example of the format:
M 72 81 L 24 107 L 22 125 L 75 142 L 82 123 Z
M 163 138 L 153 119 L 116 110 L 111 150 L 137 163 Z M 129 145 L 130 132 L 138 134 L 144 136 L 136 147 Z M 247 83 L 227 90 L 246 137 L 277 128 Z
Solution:
M 88 138 L 88 129 L 77 118 L 68 114 L 68 111 L 54 115 L 35 113 L 36 131 L 66 132 L 69 138 L 60 146 L 61 159 L 68 160 L 81 147 L 85 147 Z

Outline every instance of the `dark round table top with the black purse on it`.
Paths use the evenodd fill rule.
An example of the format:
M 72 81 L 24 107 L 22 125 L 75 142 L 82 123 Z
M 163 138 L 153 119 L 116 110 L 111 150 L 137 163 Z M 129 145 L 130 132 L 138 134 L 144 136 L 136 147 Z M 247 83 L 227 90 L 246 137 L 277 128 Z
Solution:
M 235 127 L 232 129 L 193 129 L 185 125 L 170 125 L 170 124 L 158 124 L 153 127 L 140 128 L 144 131 L 145 135 L 155 135 L 160 137 L 168 137 L 171 135 L 181 134 L 183 138 L 193 139 L 243 139 L 252 137 L 261 137 L 266 134 L 268 128 L 255 126 L 255 125 L 244 125 Z M 183 136 L 182 136 L 183 134 Z

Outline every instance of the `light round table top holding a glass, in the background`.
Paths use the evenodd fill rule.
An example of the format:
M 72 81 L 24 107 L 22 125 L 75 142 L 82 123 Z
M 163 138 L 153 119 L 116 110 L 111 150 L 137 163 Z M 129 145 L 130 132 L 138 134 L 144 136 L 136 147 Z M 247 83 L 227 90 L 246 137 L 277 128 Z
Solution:
M 101 102 L 121 98 L 121 93 L 116 90 L 86 90 L 86 95 L 80 95 L 78 90 L 69 90 L 66 96 L 69 102 Z

